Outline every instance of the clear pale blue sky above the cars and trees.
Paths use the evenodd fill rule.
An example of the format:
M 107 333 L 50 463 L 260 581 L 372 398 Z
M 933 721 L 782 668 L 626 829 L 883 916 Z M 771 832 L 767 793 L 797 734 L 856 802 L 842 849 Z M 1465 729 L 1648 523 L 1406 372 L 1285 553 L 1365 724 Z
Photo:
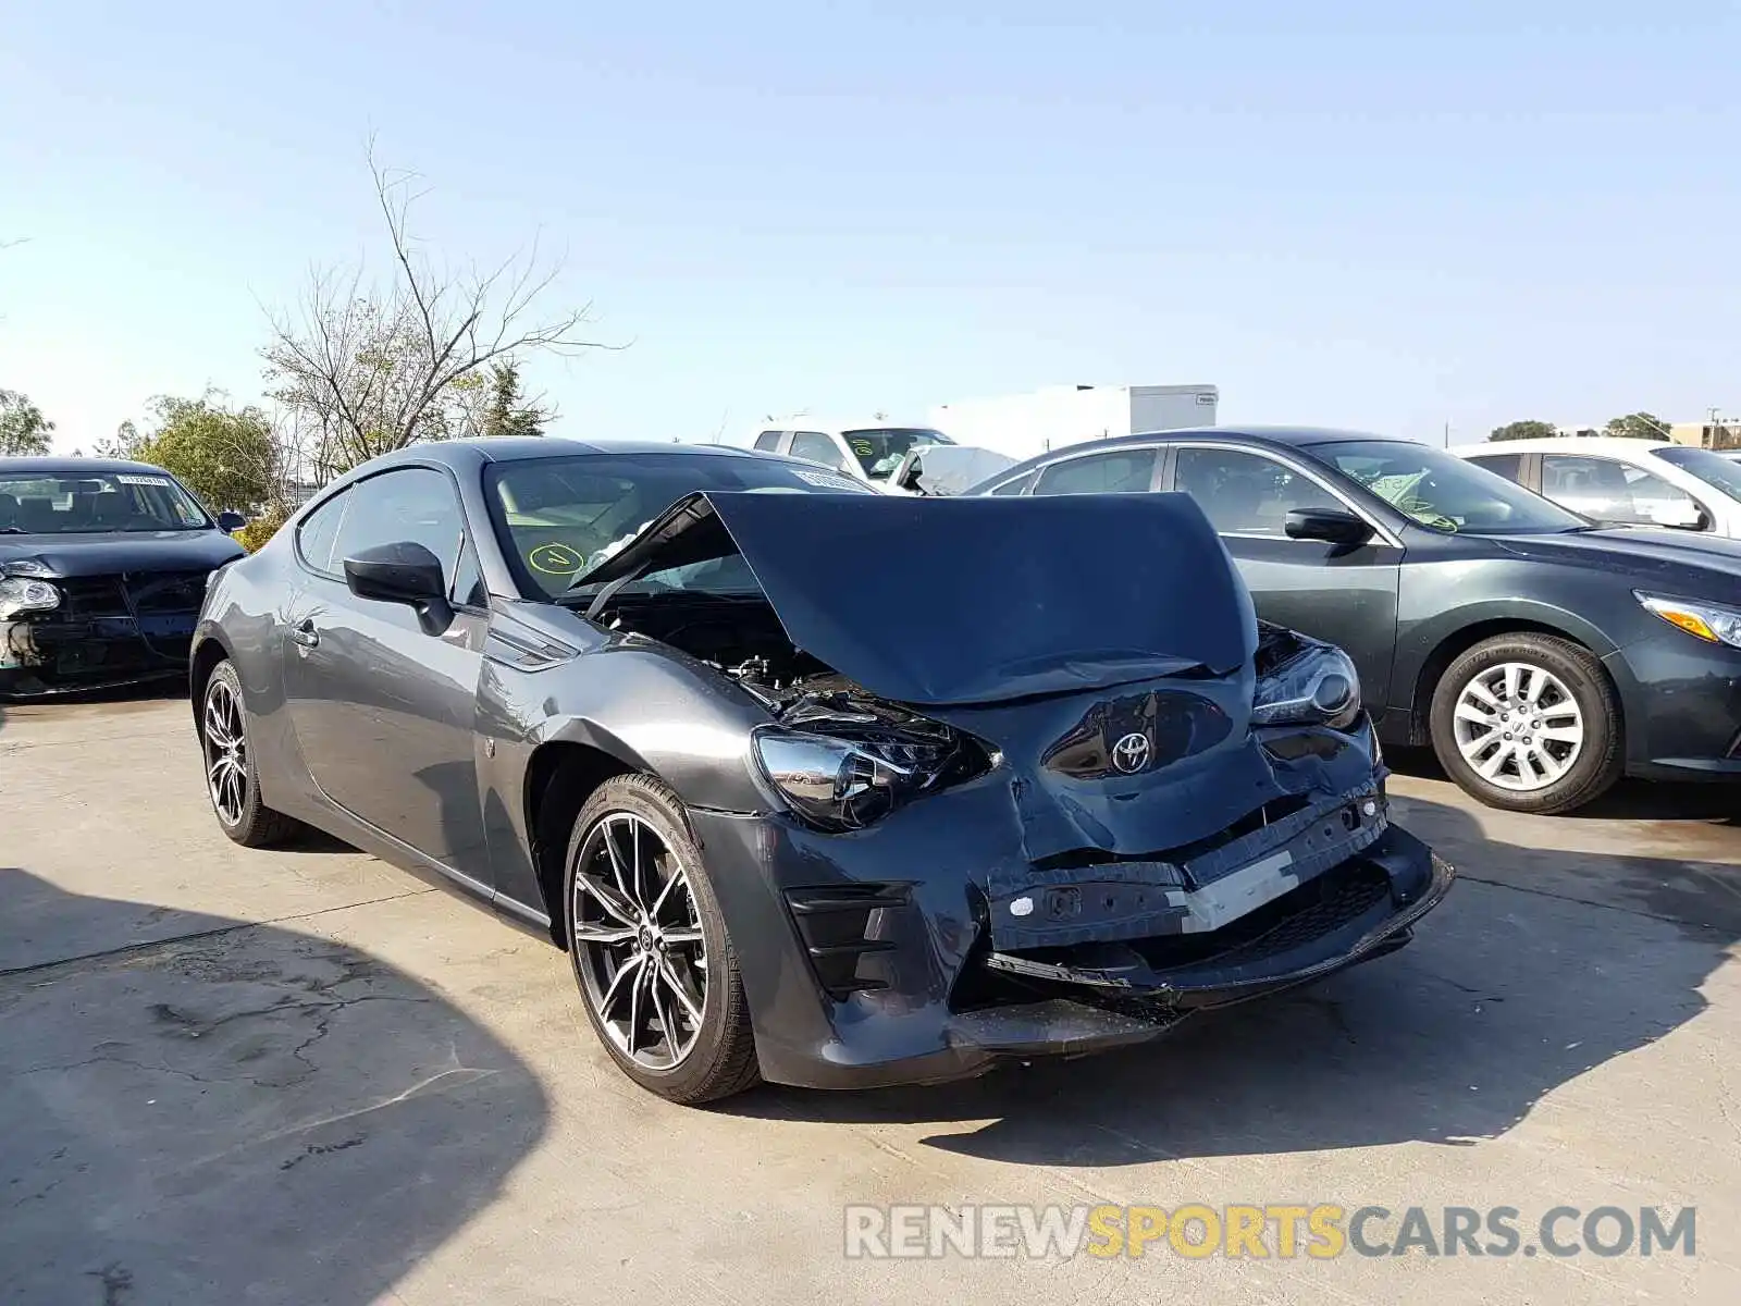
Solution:
M 1212 12 L 1236 10 L 1236 12 Z M 364 141 L 597 306 L 562 434 L 1212 381 L 1455 442 L 1741 411 L 1741 7 L 56 3 L 0 24 L 0 387 L 261 390 Z

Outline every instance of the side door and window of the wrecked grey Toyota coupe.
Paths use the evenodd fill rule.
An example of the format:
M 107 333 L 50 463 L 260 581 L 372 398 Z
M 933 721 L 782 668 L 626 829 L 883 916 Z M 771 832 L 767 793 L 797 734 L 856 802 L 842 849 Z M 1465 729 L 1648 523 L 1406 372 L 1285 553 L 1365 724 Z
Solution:
M 400 467 L 343 498 L 336 540 L 312 552 L 298 542 L 305 585 L 286 611 L 286 705 L 303 759 L 345 811 L 487 890 L 475 710 L 489 616 L 454 484 Z M 345 583 L 345 557 L 404 540 L 442 562 L 454 604 L 446 630 Z

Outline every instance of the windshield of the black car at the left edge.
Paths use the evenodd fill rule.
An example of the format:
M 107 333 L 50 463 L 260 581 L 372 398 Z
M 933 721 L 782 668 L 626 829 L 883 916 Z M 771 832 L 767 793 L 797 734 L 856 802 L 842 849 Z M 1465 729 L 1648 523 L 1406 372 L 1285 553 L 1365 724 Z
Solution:
M 211 524 L 167 472 L 0 472 L 0 535 L 200 531 Z

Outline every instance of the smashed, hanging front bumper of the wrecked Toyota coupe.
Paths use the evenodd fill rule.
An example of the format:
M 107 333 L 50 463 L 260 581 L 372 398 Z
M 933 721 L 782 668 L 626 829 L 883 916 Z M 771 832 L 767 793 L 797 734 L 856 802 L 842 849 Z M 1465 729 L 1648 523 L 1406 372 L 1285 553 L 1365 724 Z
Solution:
M 1454 881 L 1375 785 L 1196 857 L 1046 869 L 971 865 L 956 831 L 996 787 L 954 799 L 846 838 L 691 813 L 766 1078 L 933 1083 L 1149 1041 L 1402 947 Z

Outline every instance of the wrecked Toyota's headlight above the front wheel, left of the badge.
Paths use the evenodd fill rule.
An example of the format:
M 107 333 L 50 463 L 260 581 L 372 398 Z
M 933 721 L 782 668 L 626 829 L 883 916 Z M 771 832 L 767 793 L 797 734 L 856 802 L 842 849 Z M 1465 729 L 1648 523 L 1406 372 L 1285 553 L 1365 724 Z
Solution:
M 763 726 L 752 737 L 768 784 L 806 825 L 830 834 L 860 831 L 902 803 L 961 778 L 954 731 L 911 738 L 883 731 L 818 735 Z

